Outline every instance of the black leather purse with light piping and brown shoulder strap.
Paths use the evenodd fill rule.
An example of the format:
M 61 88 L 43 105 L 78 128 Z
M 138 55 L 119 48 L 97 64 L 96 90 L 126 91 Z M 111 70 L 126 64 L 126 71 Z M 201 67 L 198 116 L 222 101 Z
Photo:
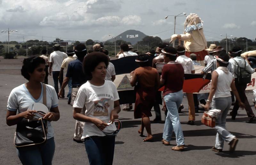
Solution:
M 43 104 L 46 106 L 46 86 L 43 83 Z M 23 118 L 16 127 L 14 145 L 25 147 L 43 144 L 47 141 L 47 120 L 39 118 L 29 121 Z

